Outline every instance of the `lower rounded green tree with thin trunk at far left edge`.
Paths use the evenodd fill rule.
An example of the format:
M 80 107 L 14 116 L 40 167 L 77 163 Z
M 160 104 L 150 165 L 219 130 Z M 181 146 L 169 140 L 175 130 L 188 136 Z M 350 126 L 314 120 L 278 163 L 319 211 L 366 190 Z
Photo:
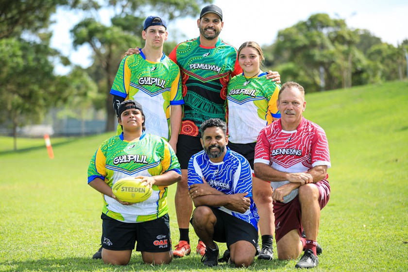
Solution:
M 51 105 L 64 102 L 65 85 L 53 74 L 50 56 L 57 54 L 46 41 L 29 42 L 18 38 L 0 39 L 0 107 L 2 121 L 17 127 L 38 122 Z M 12 55 L 12 57 L 10 57 Z

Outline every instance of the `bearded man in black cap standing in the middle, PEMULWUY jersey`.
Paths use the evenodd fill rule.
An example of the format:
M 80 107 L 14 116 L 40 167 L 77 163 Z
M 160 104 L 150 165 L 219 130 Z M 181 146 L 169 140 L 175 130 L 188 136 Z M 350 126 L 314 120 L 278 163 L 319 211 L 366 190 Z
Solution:
M 182 180 L 177 183 L 175 207 L 180 231 L 180 242 L 173 250 L 175 257 L 191 252 L 189 219 L 193 204 L 188 195 L 187 168 L 190 157 L 200 152 L 200 126 L 204 120 L 219 118 L 225 120 L 225 99 L 231 77 L 242 73 L 238 64 L 238 52 L 232 45 L 219 38 L 223 27 L 222 11 L 216 5 L 205 6 L 197 20 L 200 35 L 182 42 L 171 51 L 169 57 L 181 69 L 184 98 L 184 113 L 177 142 L 176 154 L 180 162 Z M 126 54 L 138 53 L 129 49 Z M 268 78 L 280 83 L 277 72 Z M 196 252 L 205 254 L 205 245 L 199 241 Z

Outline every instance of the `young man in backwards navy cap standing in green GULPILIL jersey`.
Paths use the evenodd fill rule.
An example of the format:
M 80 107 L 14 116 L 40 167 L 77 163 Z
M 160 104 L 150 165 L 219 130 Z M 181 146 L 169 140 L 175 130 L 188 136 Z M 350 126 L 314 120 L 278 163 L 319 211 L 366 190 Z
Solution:
M 142 31 L 145 46 L 140 54 L 123 58 L 110 93 L 118 117 L 119 104 L 126 99 L 143 104 L 147 132 L 169 141 L 175 149 L 184 100 L 180 69 L 163 53 L 167 36 L 164 18 L 147 17 Z M 118 125 L 118 135 L 121 132 Z M 102 247 L 93 258 L 101 258 L 101 251 Z

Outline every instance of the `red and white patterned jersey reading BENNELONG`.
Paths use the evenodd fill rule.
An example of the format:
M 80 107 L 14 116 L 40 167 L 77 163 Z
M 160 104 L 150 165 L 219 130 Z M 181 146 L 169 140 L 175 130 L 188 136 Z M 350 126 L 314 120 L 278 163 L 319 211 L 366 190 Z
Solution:
M 318 166 L 330 168 L 329 145 L 324 130 L 303 118 L 295 131 L 282 129 L 280 120 L 261 130 L 255 147 L 254 163 L 265 163 L 272 168 L 289 173 L 306 172 Z M 289 181 L 271 182 L 273 188 Z M 293 190 L 284 198 L 288 203 L 298 194 Z

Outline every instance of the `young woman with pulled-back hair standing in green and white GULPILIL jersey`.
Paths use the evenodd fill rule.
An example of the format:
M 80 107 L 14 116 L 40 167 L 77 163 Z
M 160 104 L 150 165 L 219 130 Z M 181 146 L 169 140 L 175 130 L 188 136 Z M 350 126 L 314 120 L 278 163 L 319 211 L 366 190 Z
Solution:
M 243 73 L 231 79 L 227 92 L 228 147 L 243 155 L 252 169 L 260 130 L 280 118 L 276 106 L 280 86 L 266 79 L 267 73 L 261 70 L 263 60 L 262 50 L 256 42 L 244 42 L 238 49 Z M 253 177 L 253 196 L 262 235 L 258 259 L 271 260 L 274 220 L 270 183 Z

